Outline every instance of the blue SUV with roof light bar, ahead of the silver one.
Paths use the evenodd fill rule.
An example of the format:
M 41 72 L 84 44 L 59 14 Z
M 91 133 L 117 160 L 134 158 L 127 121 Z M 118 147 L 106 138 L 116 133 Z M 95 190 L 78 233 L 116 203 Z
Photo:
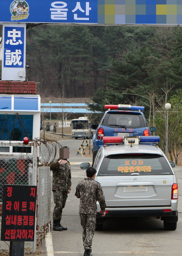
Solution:
M 105 111 L 98 127 L 92 124 L 96 130 L 93 136 L 93 160 L 99 148 L 103 146 L 103 136 L 125 136 L 128 133 L 139 136 L 150 136 L 156 131 L 155 127 L 149 129 L 146 118 L 142 111 L 144 107 L 131 105 L 105 105 Z

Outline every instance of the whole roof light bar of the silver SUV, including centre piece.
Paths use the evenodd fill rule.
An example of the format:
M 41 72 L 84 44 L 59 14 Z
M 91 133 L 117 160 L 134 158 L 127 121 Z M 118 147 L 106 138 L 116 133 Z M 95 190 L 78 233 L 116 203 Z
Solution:
M 138 134 L 128 134 L 129 136 L 124 136 L 124 137 L 103 137 L 103 144 L 126 144 L 126 140 L 128 141 L 129 144 L 135 144 L 138 145 L 140 144 L 146 144 L 146 143 L 159 143 L 160 137 L 159 136 L 138 136 Z M 134 135 L 134 136 L 133 136 Z M 137 136 L 136 136 L 137 135 Z M 136 139 L 136 142 L 134 141 Z M 131 142 L 130 142 L 131 140 Z M 128 145 L 127 143 L 127 145 Z

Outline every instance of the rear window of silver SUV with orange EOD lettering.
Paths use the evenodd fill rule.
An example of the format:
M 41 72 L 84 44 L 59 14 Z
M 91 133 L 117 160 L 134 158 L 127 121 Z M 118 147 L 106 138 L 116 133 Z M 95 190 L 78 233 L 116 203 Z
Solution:
M 171 168 L 159 154 L 108 155 L 101 163 L 97 176 L 173 175 Z

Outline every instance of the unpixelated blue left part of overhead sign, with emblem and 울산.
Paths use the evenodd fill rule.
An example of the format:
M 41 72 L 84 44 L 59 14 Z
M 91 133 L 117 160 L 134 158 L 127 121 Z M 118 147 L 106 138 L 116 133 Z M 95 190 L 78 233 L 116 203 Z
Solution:
M 0 0 L 0 22 L 97 23 L 97 0 Z

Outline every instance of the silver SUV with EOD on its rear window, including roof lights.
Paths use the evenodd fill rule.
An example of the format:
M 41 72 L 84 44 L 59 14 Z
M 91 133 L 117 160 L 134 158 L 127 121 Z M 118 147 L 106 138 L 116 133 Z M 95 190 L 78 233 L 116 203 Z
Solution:
M 105 195 L 106 218 L 155 217 L 163 220 L 165 230 L 176 229 L 175 163 L 168 161 L 157 142 L 158 136 L 103 137 L 104 146 L 92 166 Z M 97 204 L 97 229 L 102 229 L 104 219 Z

